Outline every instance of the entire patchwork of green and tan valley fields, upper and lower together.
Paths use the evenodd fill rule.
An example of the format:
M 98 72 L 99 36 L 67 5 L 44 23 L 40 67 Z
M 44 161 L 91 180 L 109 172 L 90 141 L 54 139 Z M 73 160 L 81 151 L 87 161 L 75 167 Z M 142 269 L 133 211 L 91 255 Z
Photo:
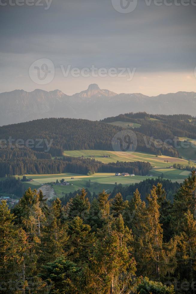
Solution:
M 145 179 L 152 179 L 156 177 L 163 176 L 164 179 L 171 179 L 173 182 L 183 182 L 186 179 L 190 172 L 170 169 L 171 165 L 174 163 L 187 165 L 188 161 L 179 158 L 172 158 L 168 156 L 159 156 L 156 157 L 152 154 L 147 154 L 143 152 L 114 152 L 114 151 L 100 151 L 100 150 L 79 150 L 79 151 L 65 151 L 64 155 L 72 157 L 81 157 L 84 158 L 95 158 L 96 160 L 102 161 L 103 163 L 117 162 L 117 161 L 146 161 L 150 162 L 153 166 L 153 170 L 150 170 L 149 176 L 129 176 L 129 177 L 116 177 L 114 173 L 95 173 L 94 175 L 80 175 L 80 174 L 53 174 L 53 175 L 26 175 L 28 178 L 31 178 L 33 181 L 24 182 L 25 188 L 31 187 L 32 189 L 38 189 L 44 184 L 51 182 L 60 182 L 61 179 L 69 182 L 70 185 L 67 186 L 57 186 L 53 185 L 55 195 L 57 197 L 62 197 L 66 193 L 74 192 L 76 190 L 88 188 L 91 193 L 99 193 L 103 189 L 110 192 L 113 190 L 115 184 L 130 185 L 141 182 Z M 103 156 L 107 155 L 108 158 Z M 168 161 L 168 162 L 167 162 Z M 192 162 L 192 165 L 194 163 Z M 20 176 L 22 178 L 22 176 Z M 73 178 L 73 179 L 71 179 Z

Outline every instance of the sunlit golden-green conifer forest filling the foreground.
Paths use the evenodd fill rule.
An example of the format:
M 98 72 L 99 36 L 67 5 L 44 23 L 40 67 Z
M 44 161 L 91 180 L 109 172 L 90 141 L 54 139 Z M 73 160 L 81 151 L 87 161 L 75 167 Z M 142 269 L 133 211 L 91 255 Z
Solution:
M 146 202 L 83 189 L 66 206 L 30 188 L 0 202 L 1 293 L 195 293 L 196 174 L 171 203 L 161 182 Z

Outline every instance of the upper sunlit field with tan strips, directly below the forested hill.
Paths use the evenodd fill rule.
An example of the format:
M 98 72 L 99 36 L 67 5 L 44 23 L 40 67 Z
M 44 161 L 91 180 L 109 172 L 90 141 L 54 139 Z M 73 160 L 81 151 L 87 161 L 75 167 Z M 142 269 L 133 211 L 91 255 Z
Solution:
M 115 152 L 115 151 L 100 151 L 100 150 L 77 150 L 77 151 L 64 151 L 65 156 L 94 158 L 103 163 L 117 162 L 117 161 L 146 161 L 154 167 L 169 167 L 176 164 L 188 165 L 188 161 L 180 158 L 173 158 L 169 156 L 156 157 L 153 154 L 143 152 Z M 108 158 L 103 156 L 107 155 Z M 168 161 L 168 162 L 167 162 Z M 194 165 L 194 163 L 192 163 Z

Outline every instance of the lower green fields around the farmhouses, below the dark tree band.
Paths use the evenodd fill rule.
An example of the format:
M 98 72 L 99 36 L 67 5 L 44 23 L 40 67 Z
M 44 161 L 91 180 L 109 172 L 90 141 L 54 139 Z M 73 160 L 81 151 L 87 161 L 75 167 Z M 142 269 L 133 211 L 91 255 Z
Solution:
M 91 176 L 84 176 L 78 174 L 56 174 L 56 175 L 26 175 L 33 179 L 32 182 L 25 182 L 25 188 L 31 187 L 32 189 L 38 189 L 41 185 L 48 182 L 56 182 L 58 179 L 65 179 L 70 185 L 56 186 L 54 185 L 54 191 L 57 197 L 62 197 L 66 193 L 74 192 L 76 190 L 87 188 L 91 193 L 99 193 L 103 189 L 110 192 L 113 190 L 115 184 L 122 184 L 123 186 L 139 183 L 145 179 L 152 179 L 163 176 L 164 179 L 171 179 L 172 182 L 182 183 L 184 179 L 189 176 L 190 172 L 169 169 L 164 167 L 154 168 L 150 170 L 150 176 L 129 176 L 129 177 L 116 177 L 114 173 L 95 173 Z M 74 179 L 71 179 L 74 178 Z

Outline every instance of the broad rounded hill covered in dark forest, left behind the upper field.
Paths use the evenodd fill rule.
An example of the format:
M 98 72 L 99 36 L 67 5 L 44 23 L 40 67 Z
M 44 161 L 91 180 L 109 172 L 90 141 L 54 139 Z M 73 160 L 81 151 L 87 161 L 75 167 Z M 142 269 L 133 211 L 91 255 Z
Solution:
M 25 122 L 20 124 L 8 125 L 0 127 L 0 139 L 8 140 L 11 137 L 13 140 L 12 145 L 14 147 L 17 139 L 22 139 L 25 142 L 29 139 L 40 143 L 39 140 L 43 140 L 39 146 L 35 144 L 28 152 L 44 152 L 47 150 L 45 142 L 52 143 L 47 152 L 52 156 L 62 156 L 64 150 L 81 150 L 81 149 L 93 149 L 93 150 L 113 150 L 111 146 L 112 138 L 115 134 L 123 129 L 118 126 L 109 125 L 103 122 L 93 122 L 83 119 L 38 119 L 31 122 Z M 151 144 L 150 148 L 146 147 L 144 136 L 140 132 L 135 132 L 137 136 L 138 146 L 136 151 L 157 153 L 155 144 Z M 149 137 L 146 138 L 150 140 Z M 43 148 L 40 148 L 43 146 Z M 15 152 L 17 157 L 26 157 L 21 152 L 26 150 L 20 148 L 15 149 L 1 149 L 1 158 L 10 158 L 11 153 Z M 16 154 L 17 150 L 19 156 Z M 30 151 L 29 151 L 30 150 Z M 163 155 L 178 157 L 178 153 L 174 149 L 168 149 L 165 144 L 159 148 Z M 36 153 L 34 155 L 38 157 Z M 28 156 L 29 157 L 29 156 Z M 41 158 L 46 158 L 41 155 Z M 48 157 L 47 157 L 48 159 Z

